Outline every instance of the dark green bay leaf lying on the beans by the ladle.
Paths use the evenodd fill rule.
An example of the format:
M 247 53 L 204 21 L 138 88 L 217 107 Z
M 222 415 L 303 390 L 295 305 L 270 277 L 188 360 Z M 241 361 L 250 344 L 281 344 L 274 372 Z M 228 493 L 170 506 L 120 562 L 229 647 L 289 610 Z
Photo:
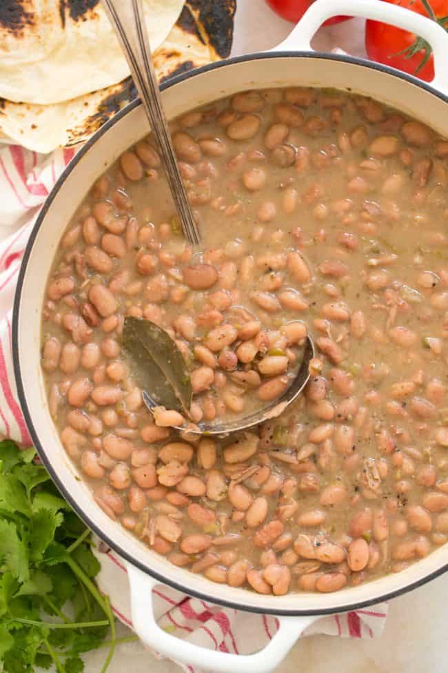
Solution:
M 141 389 L 157 404 L 188 413 L 192 401 L 190 369 L 170 335 L 151 320 L 126 315 L 122 345 Z

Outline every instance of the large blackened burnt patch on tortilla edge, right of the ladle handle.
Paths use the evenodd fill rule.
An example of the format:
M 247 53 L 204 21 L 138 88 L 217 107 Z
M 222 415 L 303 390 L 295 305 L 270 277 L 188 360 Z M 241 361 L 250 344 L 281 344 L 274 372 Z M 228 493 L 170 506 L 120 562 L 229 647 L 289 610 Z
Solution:
M 204 43 L 214 48 L 221 59 L 227 58 L 232 48 L 236 0 L 187 0 L 185 6 L 189 7 L 194 16 Z

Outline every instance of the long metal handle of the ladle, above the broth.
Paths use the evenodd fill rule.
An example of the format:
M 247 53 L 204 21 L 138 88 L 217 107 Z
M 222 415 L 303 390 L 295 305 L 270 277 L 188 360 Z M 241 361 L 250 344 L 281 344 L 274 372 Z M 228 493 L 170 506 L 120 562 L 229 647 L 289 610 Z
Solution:
M 156 136 L 176 211 L 189 243 L 198 245 L 200 236 L 188 203 L 171 142 L 167 118 L 162 107 L 159 84 L 152 64 L 150 41 L 141 0 L 103 0 L 105 11 L 121 43 L 126 60 L 141 97 L 143 107 Z

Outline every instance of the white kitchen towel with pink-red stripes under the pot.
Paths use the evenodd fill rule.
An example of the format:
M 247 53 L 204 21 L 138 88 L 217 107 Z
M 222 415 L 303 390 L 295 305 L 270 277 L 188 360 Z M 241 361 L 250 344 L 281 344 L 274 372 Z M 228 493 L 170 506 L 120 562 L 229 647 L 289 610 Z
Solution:
M 74 153 L 72 149 L 61 149 L 45 157 L 15 145 L 0 150 L 0 225 L 17 228 L 21 224 L 0 243 L 0 436 L 10 437 L 23 447 L 30 446 L 31 439 L 17 400 L 12 372 L 14 289 L 39 209 Z M 125 565 L 110 550 L 99 552 L 99 559 L 99 587 L 110 596 L 116 616 L 132 628 Z M 275 617 L 218 607 L 166 586 L 154 590 L 154 610 L 161 627 L 192 643 L 222 652 L 256 652 L 277 629 Z M 323 633 L 374 638 L 383 631 L 386 616 L 387 604 L 381 603 L 370 609 L 325 616 L 304 635 Z M 192 667 L 184 668 L 189 673 L 198 673 Z

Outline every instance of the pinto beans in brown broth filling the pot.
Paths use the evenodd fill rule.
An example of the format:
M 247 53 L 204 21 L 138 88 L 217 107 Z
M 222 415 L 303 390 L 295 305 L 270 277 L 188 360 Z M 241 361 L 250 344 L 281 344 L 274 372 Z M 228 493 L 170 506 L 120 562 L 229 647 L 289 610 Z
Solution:
M 93 186 L 50 272 L 42 367 L 65 450 L 112 519 L 211 581 L 332 592 L 404 569 L 448 534 L 448 142 L 301 88 L 171 127 L 201 251 L 148 138 Z M 319 353 L 280 418 L 192 441 L 143 406 L 125 315 L 176 340 L 194 422 L 281 394 L 307 331 Z

